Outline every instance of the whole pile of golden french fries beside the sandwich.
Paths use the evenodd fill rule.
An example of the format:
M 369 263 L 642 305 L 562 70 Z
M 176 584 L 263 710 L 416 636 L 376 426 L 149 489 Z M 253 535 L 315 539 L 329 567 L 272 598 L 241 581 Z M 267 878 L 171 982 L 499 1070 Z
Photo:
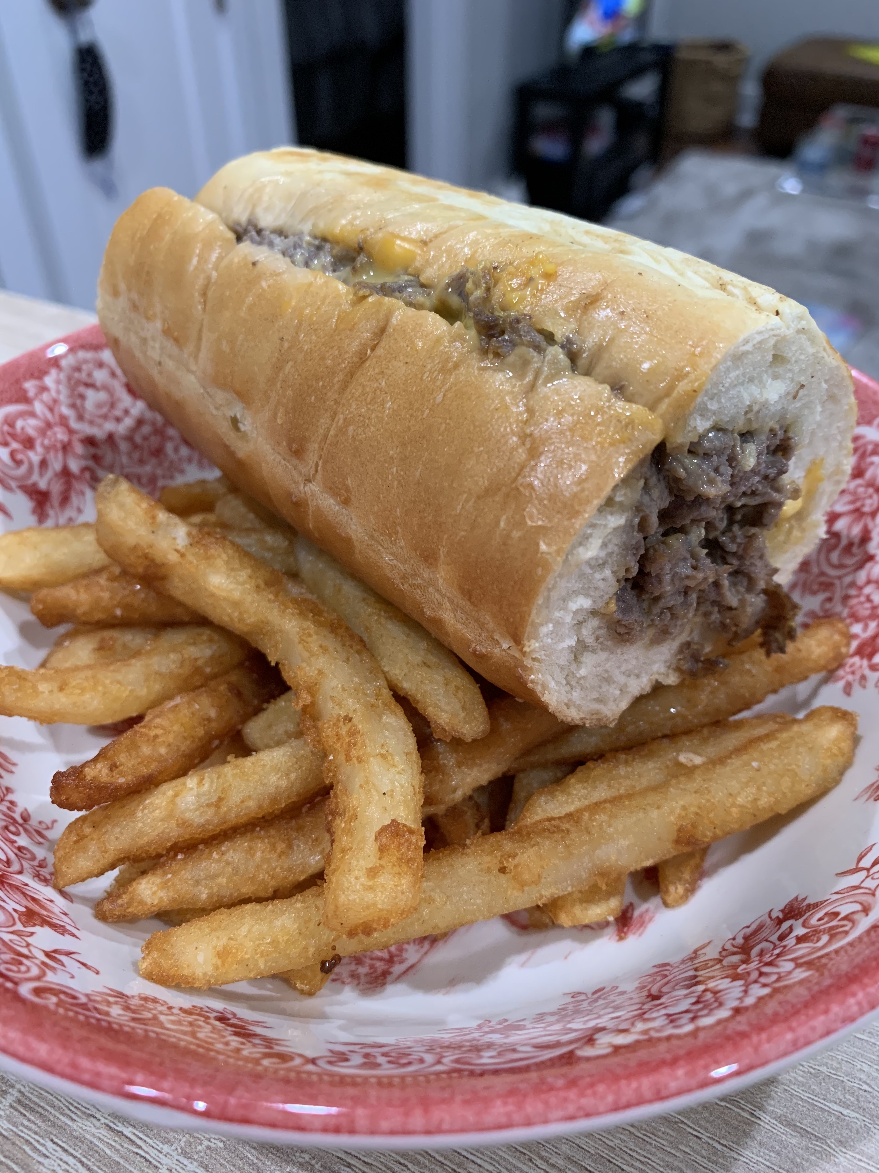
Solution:
M 0 667 L 0 713 L 129 723 L 52 780 L 84 812 L 55 883 L 116 872 L 100 920 L 170 922 L 143 948 L 151 981 L 314 994 L 343 956 L 499 914 L 616 916 L 629 873 L 654 866 L 679 906 L 710 843 L 852 760 L 845 710 L 731 719 L 836 669 L 841 621 L 572 728 L 481 685 L 223 477 L 156 502 L 109 476 L 96 507 L 94 526 L 0 537 L 0 588 L 64 625 L 39 667 Z

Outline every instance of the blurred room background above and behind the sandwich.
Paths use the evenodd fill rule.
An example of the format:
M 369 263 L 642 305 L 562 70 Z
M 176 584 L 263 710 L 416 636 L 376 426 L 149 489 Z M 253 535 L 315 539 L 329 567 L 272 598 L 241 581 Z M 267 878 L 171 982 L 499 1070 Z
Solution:
M 879 0 L 0 0 L 0 286 L 91 308 L 138 192 L 294 142 L 696 253 L 879 377 Z

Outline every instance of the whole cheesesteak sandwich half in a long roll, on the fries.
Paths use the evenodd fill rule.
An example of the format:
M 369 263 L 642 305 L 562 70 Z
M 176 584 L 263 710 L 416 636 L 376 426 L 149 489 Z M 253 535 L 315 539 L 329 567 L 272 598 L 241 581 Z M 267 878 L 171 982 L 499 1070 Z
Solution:
M 507 691 L 607 724 L 757 629 L 849 475 L 849 371 L 669 249 L 281 149 L 141 196 L 98 316 L 238 484 Z

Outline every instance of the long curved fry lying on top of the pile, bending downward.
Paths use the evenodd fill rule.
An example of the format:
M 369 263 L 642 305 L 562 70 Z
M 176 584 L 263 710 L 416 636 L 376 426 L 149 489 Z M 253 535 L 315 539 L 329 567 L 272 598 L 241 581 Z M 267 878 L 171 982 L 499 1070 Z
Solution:
M 250 640 L 295 690 L 333 786 L 327 923 L 353 934 L 410 915 L 423 870 L 421 764 L 363 643 L 319 603 L 292 597 L 278 571 L 217 531 L 186 526 L 122 477 L 108 476 L 96 503 L 101 545 L 116 562 Z

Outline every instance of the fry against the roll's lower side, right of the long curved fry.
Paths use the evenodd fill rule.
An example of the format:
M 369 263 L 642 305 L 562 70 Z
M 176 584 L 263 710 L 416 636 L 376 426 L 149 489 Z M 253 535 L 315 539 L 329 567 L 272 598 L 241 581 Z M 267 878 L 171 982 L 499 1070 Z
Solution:
M 472 741 L 486 735 L 485 701 L 457 656 L 301 535 L 295 552 L 308 590 L 356 631 L 390 687 L 427 717 L 435 737 Z

